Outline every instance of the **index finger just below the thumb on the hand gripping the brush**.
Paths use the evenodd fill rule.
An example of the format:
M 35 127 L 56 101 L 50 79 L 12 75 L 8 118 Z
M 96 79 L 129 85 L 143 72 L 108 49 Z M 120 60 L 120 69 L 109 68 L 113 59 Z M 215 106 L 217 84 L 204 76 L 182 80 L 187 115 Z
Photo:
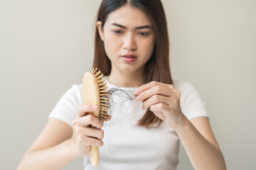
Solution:
M 100 129 L 103 126 L 103 120 L 100 120 L 94 115 L 85 115 L 80 118 L 79 125 L 83 125 L 83 126 L 93 125 L 94 127 Z

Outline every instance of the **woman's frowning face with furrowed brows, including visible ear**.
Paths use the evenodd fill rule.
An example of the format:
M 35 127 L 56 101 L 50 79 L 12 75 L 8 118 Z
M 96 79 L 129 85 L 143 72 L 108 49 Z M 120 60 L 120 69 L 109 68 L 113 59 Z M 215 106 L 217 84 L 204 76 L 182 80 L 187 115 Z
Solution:
M 126 5 L 109 14 L 103 31 L 101 24 L 97 28 L 112 70 L 142 71 L 154 51 L 154 30 L 146 14 Z

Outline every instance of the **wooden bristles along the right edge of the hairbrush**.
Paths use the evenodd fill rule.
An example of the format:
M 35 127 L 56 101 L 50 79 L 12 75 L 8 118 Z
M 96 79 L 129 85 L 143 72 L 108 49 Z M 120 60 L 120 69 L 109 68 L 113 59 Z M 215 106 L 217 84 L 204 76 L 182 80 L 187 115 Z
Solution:
M 106 79 L 102 79 L 104 76 L 101 74 L 100 70 L 97 72 L 97 68 L 92 69 L 92 74 L 96 77 L 97 83 L 99 85 L 100 89 L 100 114 L 99 118 L 102 120 L 106 120 L 107 118 L 107 108 L 109 106 L 109 101 L 108 101 L 108 96 L 109 96 L 109 91 L 107 91 L 107 86 L 105 86 L 107 83 L 104 82 Z

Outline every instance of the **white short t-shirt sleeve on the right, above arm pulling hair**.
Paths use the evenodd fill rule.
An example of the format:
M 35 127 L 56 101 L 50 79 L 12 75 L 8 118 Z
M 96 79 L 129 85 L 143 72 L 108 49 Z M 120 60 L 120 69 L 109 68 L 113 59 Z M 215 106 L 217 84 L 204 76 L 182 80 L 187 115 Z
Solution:
M 181 91 L 181 111 L 188 120 L 200 116 L 208 117 L 205 105 L 196 88 L 190 82 L 184 83 Z

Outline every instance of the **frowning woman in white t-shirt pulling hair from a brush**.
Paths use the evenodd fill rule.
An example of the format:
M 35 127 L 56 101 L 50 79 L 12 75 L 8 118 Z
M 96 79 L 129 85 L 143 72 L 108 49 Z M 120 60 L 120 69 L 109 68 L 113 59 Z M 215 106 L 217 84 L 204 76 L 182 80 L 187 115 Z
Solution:
M 103 126 L 87 114 L 97 106 L 82 105 L 81 84 L 73 85 L 18 169 L 60 169 L 82 155 L 85 169 L 176 169 L 179 140 L 194 169 L 226 169 L 196 89 L 171 79 L 161 1 L 103 0 L 97 15 L 93 67 L 109 89 L 128 91 L 135 101 L 113 95 Z M 91 145 L 100 147 L 97 168 L 88 158 Z

